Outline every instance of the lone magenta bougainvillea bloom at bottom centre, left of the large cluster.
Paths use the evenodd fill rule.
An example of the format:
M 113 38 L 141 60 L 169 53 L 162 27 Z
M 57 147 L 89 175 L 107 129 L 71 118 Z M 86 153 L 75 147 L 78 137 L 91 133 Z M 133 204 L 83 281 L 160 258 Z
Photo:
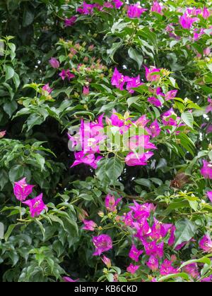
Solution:
M 93 238 L 93 244 L 95 245 L 93 256 L 100 256 L 103 252 L 112 249 L 112 238 L 109 235 L 95 236 Z

